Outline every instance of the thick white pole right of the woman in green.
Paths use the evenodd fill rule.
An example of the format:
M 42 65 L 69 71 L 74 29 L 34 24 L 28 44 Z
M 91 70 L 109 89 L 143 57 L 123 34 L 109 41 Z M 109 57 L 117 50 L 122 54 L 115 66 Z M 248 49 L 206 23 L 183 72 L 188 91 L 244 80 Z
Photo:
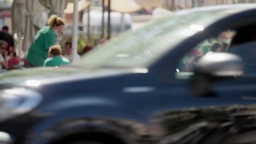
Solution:
M 77 55 L 77 39 L 78 39 L 77 36 L 78 36 L 78 0 L 74 0 L 73 35 L 72 35 L 72 61 L 73 60 L 75 61 L 75 55 Z

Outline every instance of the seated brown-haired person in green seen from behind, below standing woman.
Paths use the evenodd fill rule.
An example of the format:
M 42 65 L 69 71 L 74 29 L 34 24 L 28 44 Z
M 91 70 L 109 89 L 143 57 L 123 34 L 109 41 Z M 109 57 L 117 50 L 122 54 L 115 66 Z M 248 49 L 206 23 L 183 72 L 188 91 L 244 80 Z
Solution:
M 44 67 L 57 67 L 63 66 L 70 63 L 70 61 L 65 58 L 61 57 L 61 47 L 60 45 L 51 46 L 49 49 L 49 58 L 45 59 Z

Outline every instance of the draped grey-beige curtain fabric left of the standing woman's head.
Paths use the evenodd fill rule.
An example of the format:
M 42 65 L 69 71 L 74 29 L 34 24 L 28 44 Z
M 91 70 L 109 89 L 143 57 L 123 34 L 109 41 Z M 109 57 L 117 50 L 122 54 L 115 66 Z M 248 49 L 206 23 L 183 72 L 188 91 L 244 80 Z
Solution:
M 12 28 L 13 34 L 17 33 L 18 37 L 24 36 L 22 50 L 25 52 L 31 45 L 36 32 L 42 24 L 41 16 L 44 7 L 38 0 L 14 0 L 12 7 Z

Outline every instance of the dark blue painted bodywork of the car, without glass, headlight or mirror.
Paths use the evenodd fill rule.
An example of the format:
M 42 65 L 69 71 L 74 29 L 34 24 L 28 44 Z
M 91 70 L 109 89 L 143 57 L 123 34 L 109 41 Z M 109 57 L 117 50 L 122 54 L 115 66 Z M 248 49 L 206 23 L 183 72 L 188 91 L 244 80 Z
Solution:
M 213 23 L 166 53 L 148 73 L 114 69 L 104 76 L 97 69 L 102 76 L 84 73 L 72 79 L 78 74 L 70 74 L 42 79 L 39 87 L 11 85 L 35 89 L 44 99 L 31 112 L 1 122 L 0 130 L 13 135 L 14 143 L 48 143 L 91 131 L 127 143 L 255 143 L 255 77 L 219 81 L 212 97 L 200 97 L 191 94 L 189 80 L 172 75 L 188 45 L 223 31 L 230 21 L 232 27 L 252 23 L 255 13 L 248 10 Z

